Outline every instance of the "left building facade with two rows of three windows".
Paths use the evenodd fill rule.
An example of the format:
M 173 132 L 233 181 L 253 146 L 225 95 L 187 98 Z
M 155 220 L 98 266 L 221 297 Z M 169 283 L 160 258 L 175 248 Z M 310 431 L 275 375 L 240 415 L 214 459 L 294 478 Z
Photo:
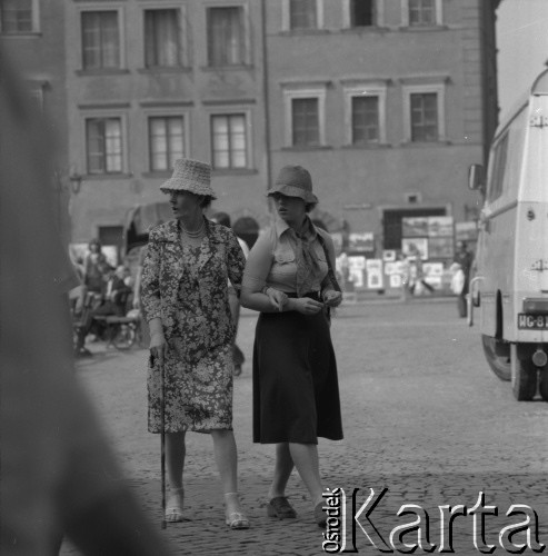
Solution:
M 260 3 L 67 4 L 73 241 L 121 245 L 181 157 L 211 161 L 216 210 L 265 220 Z

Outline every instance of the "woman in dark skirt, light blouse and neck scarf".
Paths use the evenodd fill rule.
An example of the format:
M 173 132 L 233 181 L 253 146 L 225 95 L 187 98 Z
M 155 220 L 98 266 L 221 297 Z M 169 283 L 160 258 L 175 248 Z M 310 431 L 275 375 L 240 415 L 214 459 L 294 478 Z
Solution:
M 330 236 L 308 212 L 318 202 L 310 173 L 282 168 L 268 192 L 278 218 L 249 254 L 241 302 L 260 311 L 253 349 L 253 440 L 276 444 L 268 515 L 296 517 L 286 497 L 293 468 L 316 522 L 326 526 L 318 437 L 342 438 L 337 364 L 326 308 L 341 301 Z

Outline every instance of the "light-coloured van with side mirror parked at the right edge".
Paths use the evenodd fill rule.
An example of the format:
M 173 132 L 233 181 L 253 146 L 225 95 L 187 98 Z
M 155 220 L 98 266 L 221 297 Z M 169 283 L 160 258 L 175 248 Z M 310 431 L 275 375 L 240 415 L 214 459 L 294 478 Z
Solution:
M 468 322 L 518 400 L 548 401 L 548 70 L 501 121 L 468 186 L 482 195 Z

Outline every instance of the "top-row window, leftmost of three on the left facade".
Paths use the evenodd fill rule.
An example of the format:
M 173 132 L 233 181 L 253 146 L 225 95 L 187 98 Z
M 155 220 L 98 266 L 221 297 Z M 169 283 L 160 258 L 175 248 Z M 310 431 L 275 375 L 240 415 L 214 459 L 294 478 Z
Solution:
M 82 12 L 82 67 L 120 68 L 118 11 Z

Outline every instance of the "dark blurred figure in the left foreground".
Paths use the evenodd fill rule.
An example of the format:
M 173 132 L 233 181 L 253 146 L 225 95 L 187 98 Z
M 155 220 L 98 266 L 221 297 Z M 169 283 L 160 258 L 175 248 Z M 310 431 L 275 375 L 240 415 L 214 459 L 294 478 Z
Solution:
M 64 534 L 87 555 L 165 555 L 74 379 L 39 120 L 0 53 L 0 554 L 58 554 Z

